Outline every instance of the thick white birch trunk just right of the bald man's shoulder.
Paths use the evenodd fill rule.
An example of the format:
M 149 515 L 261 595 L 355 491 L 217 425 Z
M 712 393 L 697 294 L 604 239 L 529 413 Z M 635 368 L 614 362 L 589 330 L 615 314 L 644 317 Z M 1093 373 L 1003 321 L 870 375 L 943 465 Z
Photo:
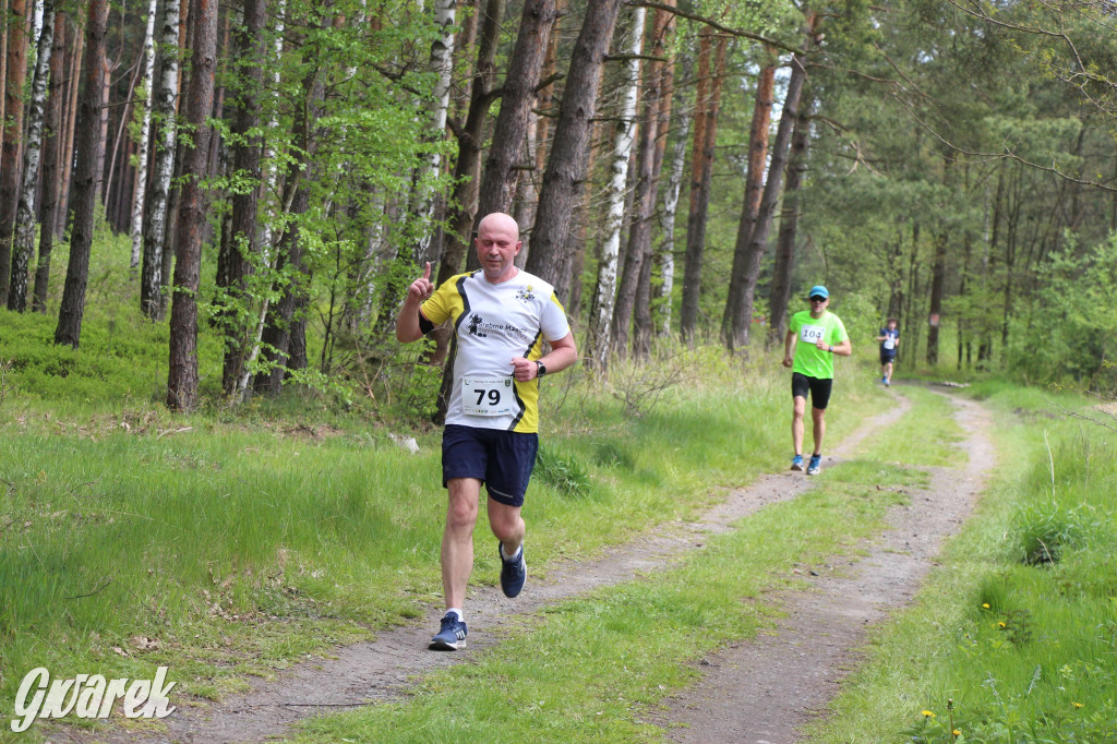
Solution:
M 630 44 L 623 50 L 630 55 L 626 65 L 626 78 L 621 89 L 621 107 L 617 113 L 613 132 L 613 150 L 609 160 L 609 181 L 605 187 L 605 238 L 598 261 L 598 283 L 593 297 L 593 314 L 590 316 L 586 354 L 593 364 L 604 370 L 609 362 L 610 335 L 613 311 L 617 306 L 617 271 L 621 251 L 621 232 L 624 227 L 624 203 L 628 192 L 629 159 L 636 143 L 637 97 L 640 92 L 640 55 L 643 51 L 643 27 L 647 11 L 642 7 L 632 9 Z M 641 132 L 648 130 L 647 122 Z M 626 331 L 628 319 L 626 317 Z M 627 335 L 627 334 L 626 334 Z

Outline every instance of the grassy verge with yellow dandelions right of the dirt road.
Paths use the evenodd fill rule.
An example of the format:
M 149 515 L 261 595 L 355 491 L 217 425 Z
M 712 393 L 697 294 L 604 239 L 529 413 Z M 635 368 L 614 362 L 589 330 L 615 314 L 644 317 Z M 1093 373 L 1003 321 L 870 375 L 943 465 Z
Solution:
M 812 741 L 1117 738 L 1113 433 L 1050 395 L 976 392 L 1008 466 Z

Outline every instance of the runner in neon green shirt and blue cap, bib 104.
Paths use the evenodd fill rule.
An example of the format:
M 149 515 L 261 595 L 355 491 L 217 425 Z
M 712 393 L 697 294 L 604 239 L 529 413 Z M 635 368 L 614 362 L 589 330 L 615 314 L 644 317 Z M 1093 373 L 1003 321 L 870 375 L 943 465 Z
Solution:
M 791 439 L 795 457 L 791 460 L 791 469 L 803 469 L 803 414 L 810 393 L 814 452 L 806 466 L 806 475 L 818 475 L 822 469 L 822 438 L 827 433 L 825 416 L 833 385 L 834 354 L 849 356 L 853 347 L 846 326 L 837 315 L 827 311 L 830 292 L 819 284 L 811 287 L 808 297 L 811 309 L 791 317 L 787 335 L 783 340 L 783 365 L 791 368 L 791 395 L 794 401 Z

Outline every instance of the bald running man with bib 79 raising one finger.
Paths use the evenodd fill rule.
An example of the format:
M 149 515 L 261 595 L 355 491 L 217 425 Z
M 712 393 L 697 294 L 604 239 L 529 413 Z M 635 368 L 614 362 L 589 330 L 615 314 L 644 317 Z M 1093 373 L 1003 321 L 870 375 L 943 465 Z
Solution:
M 454 276 L 433 290 L 427 264 L 408 287 L 395 319 L 395 337 L 403 343 L 446 322 L 454 323 L 457 335 L 442 433 L 449 508 L 442 533 L 446 616 L 430 642 L 436 650 L 466 645 L 462 607 L 481 484 L 488 490 L 489 526 L 499 541 L 500 589 L 516 597 L 524 586 L 521 508 L 538 450 L 538 378 L 577 361 L 574 334 L 554 287 L 513 263 L 523 248 L 516 220 L 502 212 L 487 214 L 474 242 L 480 270 Z M 551 344 L 546 354 L 544 340 Z

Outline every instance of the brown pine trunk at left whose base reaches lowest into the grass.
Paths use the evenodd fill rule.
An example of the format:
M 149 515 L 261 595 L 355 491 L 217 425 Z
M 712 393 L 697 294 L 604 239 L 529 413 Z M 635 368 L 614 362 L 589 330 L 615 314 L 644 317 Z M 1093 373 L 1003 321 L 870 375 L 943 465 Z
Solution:
M 213 78 L 217 71 L 217 0 L 193 2 L 191 20 L 195 34 L 185 120 L 194 130 L 182 169 L 171 305 L 171 359 L 166 376 L 166 406 L 173 411 L 192 411 L 198 407 L 197 295 L 202 263 L 202 225 L 206 222 L 206 194 L 201 181 L 209 164 L 209 141 L 213 128 L 206 120 L 213 108 Z

